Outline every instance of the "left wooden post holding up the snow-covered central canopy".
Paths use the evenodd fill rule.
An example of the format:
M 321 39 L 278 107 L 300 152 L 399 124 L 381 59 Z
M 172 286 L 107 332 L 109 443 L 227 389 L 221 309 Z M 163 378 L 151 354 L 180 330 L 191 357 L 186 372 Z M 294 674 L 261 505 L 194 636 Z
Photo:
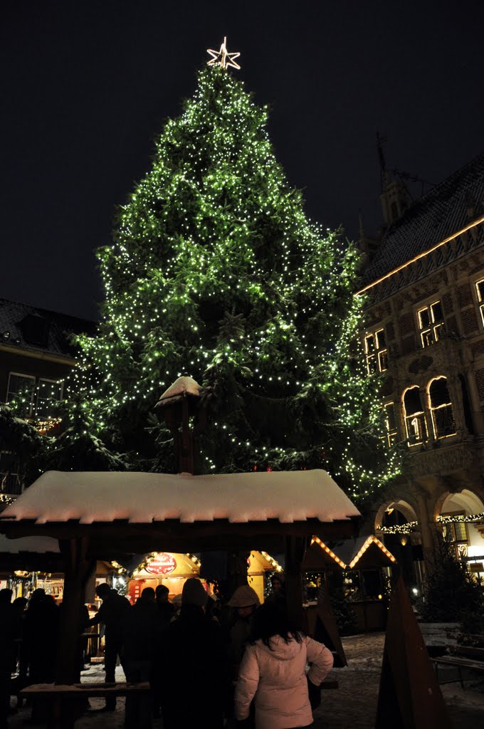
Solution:
M 70 685 L 80 680 L 79 628 L 81 606 L 84 603 L 87 579 L 93 571 L 94 560 L 87 558 L 87 537 L 60 539 L 66 572 L 58 636 L 55 683 Z

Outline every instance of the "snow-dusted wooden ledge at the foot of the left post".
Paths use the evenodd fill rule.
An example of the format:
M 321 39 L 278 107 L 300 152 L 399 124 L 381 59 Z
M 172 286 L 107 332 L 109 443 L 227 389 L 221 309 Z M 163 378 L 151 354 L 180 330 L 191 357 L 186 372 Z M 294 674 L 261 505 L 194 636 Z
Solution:
M 72 729 L 79 718 L 75 705 L 82 706 L 88 698 L 127 696 L 149 693 L 148 682 L 130 683 L 80 683 L 72 685 L 32 684 L 20 690 L 22 698 L 36 698 L 47 703 L 49 729 Z

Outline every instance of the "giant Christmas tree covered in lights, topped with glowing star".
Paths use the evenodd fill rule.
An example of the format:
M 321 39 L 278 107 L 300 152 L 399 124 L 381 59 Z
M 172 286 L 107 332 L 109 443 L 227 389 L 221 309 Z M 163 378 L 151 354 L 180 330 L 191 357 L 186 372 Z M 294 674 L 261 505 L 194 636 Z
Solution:
M 106 301 L 98 335 L 79 338 L 74 386 L 95 437 L 131 467 L 173 469 L 153 408 L 190 375 L 208 415 L 200 471 L 321 467 L 364 496 L 389 480 L 395 456 L 355 344 L 358 255 L 305 216 L 267 110 L 223 49 L 165 124 L 98 251 Z

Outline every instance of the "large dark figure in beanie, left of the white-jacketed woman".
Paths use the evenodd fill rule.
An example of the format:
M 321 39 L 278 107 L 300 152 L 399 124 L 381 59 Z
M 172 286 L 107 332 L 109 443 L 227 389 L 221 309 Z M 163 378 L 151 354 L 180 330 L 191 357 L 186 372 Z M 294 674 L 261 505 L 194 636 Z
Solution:
M 163 729 L 222 729 L 227 696 L 227 658 L 220 626 L 205 614 L 208 594 L 196 577 L 183 586 L 177 620 L 160 644 Z M 180 684 L 190 686 L 190 701 L 173 701 Z M 200 707 L 209 707 L 206 711 Z

